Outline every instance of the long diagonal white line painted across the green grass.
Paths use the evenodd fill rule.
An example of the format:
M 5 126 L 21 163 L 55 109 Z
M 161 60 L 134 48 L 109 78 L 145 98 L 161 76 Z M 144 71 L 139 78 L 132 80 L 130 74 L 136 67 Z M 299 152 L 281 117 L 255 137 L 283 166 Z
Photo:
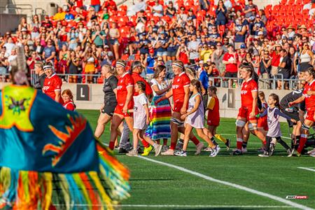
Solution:
M 186 172 L 186 173 L 188 173 L 188 174 L 193 174 L 193 175 L 195 175 L 195 176 L 199 176 L 199 177 L 201 177 L 201 178 L 203 178 L 203 179 L 207 179 L 207 180 L 209 180 L 209 181 L 213 181 L 213 182 L 216 182 L 216 183 L 221 183 L 221 184 L 223 184 L 223 185 L 225 185 L 225 186 L 230 186 L 230 187 L 233 187 L 233 188 L 237 188 L 237 189 L 239 189 L 239 190 L 245 190 L 245 191 L 247 191 L 247 192 L 249 192 L 249 193 L 253 193 L 253 194 L 255 194 L 255 195 L 261 195 L 261 196 L 263 196 L 263 197 L 268 197 L 268 198 L 270 198 L 270 199 L 272 199 L 272 200 L 276 200 L 277 202 L 282 202 L 283 204 L 288 204 L 289 206 L 295 207 L 295 208 L 297 208 L 297 209 L 311 210 L 311 208 L 309 208 L 309 207 L 303 206 L 303 205 L 301 205 L 301 204 L 297 204 L 297 203 L 295 203 L 295 202 L 290 202 L 289 200 L 285 200 L 285 199 L 283 199 L 283 198 L 281 198 L 281 197 L 277 197 L 277 196 L 275 196 L 275 195 L 270 195 L 270 194 L 268 194 L 268 193 L 262 193 L 262 192 L 260 192 L 260 191 L 258 191 L 258 190 L 253 190 L 253 189 L 251 189 L 251 188 L 246 188 L 246 187 L 244 187 L 244 186 L 240 186 L 240 185 L 235 184 L 235 183 L 230 183 L 230 182 L 228 182 L 228 181 L 221 181 L 221 180 L 218 180 L 218 179 L 214 179 L 214 178 L 212 178 L 212 177 L 210 177 L 210 176 L 206 176 L 206 175 L 204 175 L 204 174 L 200 174 L 200 173 L 198 173 L 198 172 L 194 172 L 194 171 L 191 171 L 191 170 L 189 170 L 189 169 L 186 169 L 186 168 L 183 168 L 183 167 L 179 167 L 179 166 L 176 166 L 176 165 L 172 165 L 172 164 L 169 164 L 169 163 L 166 163 L 166 162 L 161 162 L 161 161 L 158 161 L 158 160 L 153 160 L 153 159 L 151 159 L 151 158 L 145 158 L 145 157 L 143 157 L 143 156 L 138 156 L 138 157 L 141 158 L 141 159 L 144 159 L 144 160 L 148 160 L 148 161 L 151 161 L 151 162 L 158 163 L 158 164 L 160 164 L 160 165 L 165 165 L 165 166 L 167 166 L 167 167 L 171 167 L 171 168 L 174 168 L 174 169 L 179 169 L 181 172 Z

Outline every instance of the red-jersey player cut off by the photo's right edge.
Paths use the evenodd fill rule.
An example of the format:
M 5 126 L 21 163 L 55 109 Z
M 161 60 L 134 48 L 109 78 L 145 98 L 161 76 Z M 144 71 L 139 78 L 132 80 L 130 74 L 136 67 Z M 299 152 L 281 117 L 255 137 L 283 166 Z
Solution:
M 302 97 L 296 99 L 293 102 L 289 103 L 289 106 L 294 104 L 299 104 L 305 100 L 305 106 L 307 109 L 307 115 L 304 119 L 302 125 L 302 132 L 300 137 L 300 144 L 297 148 L 297 156 L 300 156 L 304 148 L 305 143 L 307 142 L 307 135 L 309 134 L 309 128 L 314 125 L 315 121 L 315 71 L 314 68 L 309 68 L 304 76 L 307 84 L 304 85 Z

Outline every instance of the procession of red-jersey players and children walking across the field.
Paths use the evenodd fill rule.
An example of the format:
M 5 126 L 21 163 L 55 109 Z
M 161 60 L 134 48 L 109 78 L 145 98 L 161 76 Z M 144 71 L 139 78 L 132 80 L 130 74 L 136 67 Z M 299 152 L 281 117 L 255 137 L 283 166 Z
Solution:
M 180 61 L 175 61 L 172 64 L 175 74 L 172 80 L 165 80 L 166 68 L 163 65 L 154 69 L 154 76 L 149 82 L 139 76 L 143 71 L 140 62 L 135 61 L 130 67 L 130 71 L 125 71 L 126 64 L 123 60 L 118 60 L 116 68 L 113 66 L 102 67 L 102 73 L 106 78 L 104 81 L 106 100 L 100 109 L 101 113 L 95 135 L 100 138 L 104 132 L 104 125 L 111 121 L 111 139 L 109 142 L 111 150 L 127 144 L 127 147 L 119 148 L 119 153 L 127 153 L 128 156 L 146 156 L 154 148 L 155 156 L 177 155 L 186 157 L 188 141 L 191 140 L 196 146 L 195 155 L 199 155 L 202 151 L 209 151 L 209 156 L 215 157 L 221 150 L 214 139 L 215 137 L 223 141 L 227 150 L 230 149 L 232 139 L 225 139 L 223 135 L 216 133 L 216 128 L 220 125 L 220 100 L 216 96 L 216 87 L 208 87 L 209 103 L 204 103 L 205 91 L 202 83 L 193 71 L 186 68 Z M 315 92 L 312 92 L 313 87 L 311 86 L 314 69 L 309 68 L 304 73 L 303 79 L 305 81 L 300 84 L 301 88 L 304 86 L 307 89 L 293 91 L 293 94 L 299 97 L 287 101 L 284 105 L 281 104 L 287 97 L 280 100 L 276 94 L 270 94 L 266 102 L 265 94 L 258 91 L 253 66 L 243 62 L 239 69 L 240 78 L 243 80 L 241 83 L 241 107 L 235 123 L 237 148 L 232 151 L 231 155 L 242 155 L 247 152 L 250 134 L 262 141 L 259 157 L 274 155 L 277 142 L 286 149 L 288 157 L 306 154 L 307 134 L 309 127 L 314 122 L 313 105 L 310 102 L 315 97 Z M 116 72 L 116 76 L 113 75 L 113 72 Z M 107 97 L 109 92 L 111 92 L 111 98 Z M 117 94 L 115 94 L 116 92 Z M 304 101 L 306 102 L 304 109 L 293 109 L 297 106 L 296 104 L 304 104 Z M 298 107 L 302 107 L 302 105 Z M 104 113 L 107 109 L 111 111 Z M 301 113 L 300 115 L 297 114 L 298 111 L 302 110 L 307 111 L 305 120 L 304 117 L 299 117 Z M 286 118 L 290 124 L 293 124 L 291 146 L 281 140 L 279 116 Z M 205 127 L 205 124 L 208 127 Z M 118 127 L 122 130 L 119 132 L 121 140 L 120 144 L 115 144 L 115 141 L 118 141 Z M 195 137 L 193 129 L 207 145 Z M 127 135 L 126 140 L 123 140 L 124 133 Z M 133 146 L 130 144 L 130 134 L 132 134 L 134 141 Z M 180 139 L 181 144 L 177 144 L 179 134 L 183 138 Z M 102 141 L 106 142 L 107 139 L 109 137 L 102 137 Z M 170 142 L 168 142 L 169 139 Z M 141 151 L 139 147 L 139 140 L 144 146 L 144 151 Z M 122 144 L 121 141 L 126 142 Z M 312 144 L 306 145 L 307 147 L 314 146 Z M 308 154 L 314 156 L 314 150 L 309 151 Z

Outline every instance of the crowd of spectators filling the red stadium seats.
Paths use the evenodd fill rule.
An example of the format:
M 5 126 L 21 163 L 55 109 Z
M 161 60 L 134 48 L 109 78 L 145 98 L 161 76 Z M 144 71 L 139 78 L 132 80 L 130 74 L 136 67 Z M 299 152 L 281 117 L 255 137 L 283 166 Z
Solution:
M 298 13 L 308 19 L 276 22 L 283 15 L 281 6 L 292 3 L 300 3 Z M 67 77 L 71 83 L 80 82 L 76 74 L 90 74 L 86 82 L 102 83 L 92 74 L 119 58 L 141 61 L 147 78 L 155 66 L 170 66 L 175 59 L 210 78 L 236 78 L 244 62 L 261 78 L 294 78 L 314 65 L 315 3 L 282 0 L 277 6 L 278 13 L 276 6 L 258 9 L 253 0 L 137 0 L 129 8 L 112 0 L 91 0 L 90 5 L 67 0 L 55 15 L 41 21 L 38 15 L 29 22 L 22 18 L 17 31 L 1 34 L 0 74 L 10 71 L 15 46 L 22 43 L 29 72 L 36 61 L 52 62 L 57 73 L 74 74 Z

